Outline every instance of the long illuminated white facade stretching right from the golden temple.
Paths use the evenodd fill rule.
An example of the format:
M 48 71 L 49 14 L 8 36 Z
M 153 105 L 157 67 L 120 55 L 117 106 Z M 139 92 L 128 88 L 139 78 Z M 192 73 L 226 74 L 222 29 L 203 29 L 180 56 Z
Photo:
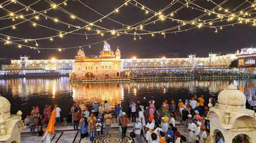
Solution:
M 122 59 L 122 68 L 195 68 L 195 67 L 229 67 L 237 59 L 237 53 L 220 55 L 209 53 L 207 58 L 197 58 L 196 54 L 188 54 L 187 58 L 154 58 L 154 59 Z

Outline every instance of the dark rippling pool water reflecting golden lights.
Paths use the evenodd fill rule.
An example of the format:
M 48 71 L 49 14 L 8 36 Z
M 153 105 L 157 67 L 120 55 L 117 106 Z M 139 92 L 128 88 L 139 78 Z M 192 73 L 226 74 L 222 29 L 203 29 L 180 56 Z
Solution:
M 170 79 L 170 80 L 133 80 L 131 82 L 97 82 L 82 83 L 70 82 L 69 77 L 59 78 L 9 78 L 0 79 L 0 95 L 11 103 L 11 113 L 22 110 L 23 117 L 29 115 L 32 106 L 39 106 L 40 111 L 46 104 L 58 104 L 62 117 L 67 113 L 74 102 L 80 107 L 92 103 L 103 103 L 108 100 L 110 107 L 115 108 L 121 103 L 126 110 L 126 100 L 142 101 L 153 96 L 156 108 L 164 100 L 191 99 L 194 95 L 204 95 L 208 104 L 210 97 L 217 98 L 218 94 L 230 83 L 233 83 L 247 98 L 255 95 L 255 78 L 218 78 L 218 79 Z

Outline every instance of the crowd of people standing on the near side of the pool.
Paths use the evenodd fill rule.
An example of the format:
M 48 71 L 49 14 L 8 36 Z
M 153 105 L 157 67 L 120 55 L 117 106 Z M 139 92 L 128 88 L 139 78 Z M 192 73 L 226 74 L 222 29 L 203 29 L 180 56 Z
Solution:
M 165 143 L 165 142 L 207 142 L 209 140 L 210 123 L 204 119 L 208 113 L 208 107 L 205 104 L 204 96 L 199 98 L 194 96 L 184 102 L 179 99 L 177 103 L 175 99 L 164 100 L 161 107 L 156 109 L 155 99 L 152 97 L 146 100 L 144 97 L 142 101 L 135 102 L 133 99 L 127 100 L 127 113 L 122 111 L 121 105 L 116 105 L 116 117 L 119 130 L 124 140 L 126 138 L 127 124 L 134 122 L 133 133 L 135 134 L 136 143 L 142 143 L 142 136 L 148 143 Z M 212 106 L 218 106 L 218 101 L 210 98 L 209 102 Z M 256 100 L 252 98 L 250 101 L 246 100 L 246 108 L 256 109 Z M 208 105 L 208 104 L 207 104 Z M 54 110 L 55 126 L 61 125 L 60 112 L 61 109 L 57 104 L 54 108 L 51 105 L 46 105 L 43 114 L 40 114 L 38 106 L 32 108 L 31 115 L 25 119 L 25 125 L 30 125 L 31 135 L 35 135 L 35 127 L 38 127 L 38 134 L 44 134 L 42 131 L 43 123 L 46 126 L 52 116 Z M 111 134 L 112 113 L 109 110 L 108 101 L 104 104 L 99 104 L 94 101 L 92 110 L 88 107 L 81 109 L 76 103 L 71 107 L 70 113 L 67 117 L 67 122 L 72 122 L 74 130 L 80 127 L 80 137 L 90 136 L 90 141 L 102 137 L 103 127 L 104 135 Z M 177 122 L 176 122 L 177 120 Z M 179 122 L 180 121 L 180 122 Z M 183 125 L 184 130 L 178 131 L 176 125 Z M 181 130 L 181 129 L 180 129 Z M 188 132 L 188 138 L 183 133 Z M 216 142 L 224 142 L 222 133 L 217 131 Z

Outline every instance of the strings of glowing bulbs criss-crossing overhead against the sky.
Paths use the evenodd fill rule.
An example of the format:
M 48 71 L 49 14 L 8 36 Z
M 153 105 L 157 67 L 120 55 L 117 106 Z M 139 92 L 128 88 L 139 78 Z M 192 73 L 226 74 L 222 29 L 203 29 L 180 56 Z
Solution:
M 67 0 L 67 1 L 68 1 L 68 0 Z M 212 2 L 211 0 L 209 0 L 209 1 Z M 48 2 L 48 1 L 46 1 L 46 2 Z M 78 0 L 78 2 L 80 2 L 80 1 Z M 139 8 L 142 9 L 142 10 L 144 10 L 146 14 L 147 14 L 147 13 L 152 13 L 152 14 L 154 14 L 154 15 L 153 15 L 152 17 L 150 17 L 150 18 L 147 18 L 147 19 L 145 19 L 145 20 L 142 20 L 142 21 L 140 21 L 140 22 L 138 22 L 138 23 L 135 23 L 135 24 L 133 24 L 133 25 L 128 25 L 128 24 L 125 24 L 125 23 L 116 21 L 116 20 L 114 20 L 114 19 L 108 17 L 110 14 L 118 12 L 119 9 L 120 9 L 122 6 L 127 5 L 127 2 L 130 3 L 130 4 L 132 4 L 132 5 L 134 5 L 134 6 L 136 6 L 136 7 L 139 7 L 139 6 L 137 6 L 137 5 L 140 5 Z M 13 44 L 20 45 L 20 44 L 18 44 L 18 43 L 16 43 L 16 42 L 19 42 L 19 41 L 25 41 L 25 42 L 26 42 L 26 41 L 34 41 L 34 42 L 36 43 L 36 40 L 50 39 L 50 40 L 52 41 L 52 39 L 53 39 L 54 37 L 63 37 L 63 35 L 67 35 L 67 34 L 86 35 L 86 36 L 88 36 L 88 35 L 101 35 L 101 36 L 103 36 L 105 33 L 112 33 L 112 35 L 117 34 L 116 36 L 111 37 L 111 38 L 106 39 L 106 40 L 110 40 L 110 39 L 116 38 L 116 37 L 118 37 L 118 36 L 120 36 L 120 35 L 123 35 L 123 34 L 134 35 L 134 40 L 136 40 L 136 36 L 138 36 L 138 37 L 141 39 L 140 35 L 149 35 L 149 34 L 151 34 L 152 36 L 154 36 L 154 34 L 159 33 L 159 34 L 164 35 L 164 37 L 165 37 L 165 34 L 167 34 L 167 33 L 177 33 L 177 32 L 182 32 L 182 31 L 191 30 L 191 29 L 193 29 L 193 28 L 195 28 L 195 27 L 203 27 L 203 26 L 204 26 L 204 27 L 210 27 L 210 28 L 216 28 L 216 32 L 217 32 L 217 27 L 222 28 L 222 27 L 224 27 L 224 26 L 230 26 L 230 25 L 238 24 L 238 23 L 241 23 L 242 20 L 245 20 L 246 22 L 253 22 L 253 20 L 254 20 L 253 23 L 254 23 L 254 25 L 255 25 L 255 19 L 253 19 L 253 18 L 247 18 L 247 19 L 241 18 L 240 16 L 243 15 L 242 13 L 240 13 L 240 14 L 239 14 L 239 13 L 231 13 L 231 11 L 228 11 L 227 9 L 222 8 L 222 7 L 221 7 L 222 4 L 216 4 L 216 3 L 215 3 L 215 5 L 217 5 L 217 7 L 215 7 L 215 8 L 212 9 L 212 10 L 207 10 L 207 9 L 202 8 L 201 6 L 198 6 L 197 4 L 193 3 L 193 1 L 187 1 L 187 3 L 183 3 L 183 2 L 180 2 L 180 1 L 175 1 L 175 2 L 173 1 L 174 3 L 173 3 L 173 2 L 170 3 L 170 4 L 167 5 L 162 11 L 160 11 L 160 12 L 155 12 L 154 10 L 151 10 L 150 8 L 147 8 L 147 7 L 143 6 L 142 4 L 138 3 L 136 0 L 133 0 L 133 2 L 136 2 L 136 4 L 133 4 L 132 1 L 126 1 L 123 5 L 121 5 L 120 7 L 118 7 L 116 10 L 112 11 L 111 13 L 109 13 L 109 14 L 107 14 L 107 15 L 105 15 L 105 16 L 102 15 L 102 14 L 100 14 L 100 13 L 97 12 L 96 10 L 94 10 L 94 9 L 92 9 L 92 8 L 90 8 L 90 7 L 88 7 L 87 5 L 84 4 L 84 6 L 90 8 L 91 10 L 93 10 L 94 12 L 96 12 L 97 14 L 99 14 L 99 15 L 102 16 L 102 18 L 100 18 L 100 19 L 98 19 L 98 20 L 96 20 L 96 21 L 94 21 L 94 22 L 92 22 L 92 23 L 90 23 L 90 22 L 88 22 L 87 20 L 84 20 L 84 19 L 82 19 L 82 18 L 80 18 L 80 17 L 78 17 L 78 16 L 76 16 L 76 15 L 73 15 L 72 13 L 66 11 L 65 9 L 63 9 L 63 8 L 61 8 L 61 7 L 59 6 L 60 4 L 66 3 L 66 1 L 65 1 L 65 2 L 62 2 L 62 3 L 58 4 L 58 5 L 55 5 L 55 4 L 54 4 L 55 6 L 52 6 L 52 8 L 49 9 L 49 10 L 51 10 L 51 9 L 53 9 L 53 7 L 54 7 L 54 8 L 57 8 L 57 9 L 59 9 L 60 11 L 65 12 L 66 14 L 68 14 L 71 18 L 72 18 L 72 16 L 73 16 L 74 19 L 78 19 L 79 21 L 82 21 L 82 22 L 84 22 L 84 23 L 87 24 L 87 25 L 85 25 L 85 26 L 81 26 L 81 27 L 80 27 L 80 26 L 76 26 L 76 25 L 70 24 L 70 23 L 68 23 L 68 22 L 60 21 L 60 20 L 58 20 L 58 19 L 56 20 L 56 18 L 53 18 L 53 17 L 50 17 L 50 16 L 44 14 L 44 12 L 42 12 L 42 11 L 40 11 L 40 12 L 35 11 L 35 10 L 29 8 L 28 6 L 23 5 L 22 3 L 19 3 L 19 2 L 16 1 L 15 3 L 18 3 L 18 4 L 20 4 L 20 5 L 24 6 L 24 7 L 27 7 L 27 9 L 29 9 L 29 10 L 31 10 L 31 11 L 34 11 L 33 14 L 37 14 L 37 16 L 32 17 L 32 18 L 29 18 L 29 19 L 23 18 L 24 21 L 19 22 L 19 23 L 17 23 L 17 24 L 23 23 L 23 22 L 25 22 L 25 21 L 29 21 L 29 22 L 33 23 L 34 26 L 38 25 L 38 26 L 46 27 L 46 28 L 49 28 L 50 30 L 58 31 L 59 34 L 53 35 L 53 36 L 50 36 L 50 37 L 33 38 L 33 39 L 31 39 L 31 38 L 18 38 L 18 37 L 13 37 L 13 36 L 8 36 L 8 35 L 0 34 L 0 35 L 2 35 L 2 36 L 5 36 L 5 37 L 8 37 L 8 38 L 9 38 L 9 39 L 7 38 L 7 40 L 1 38 L 1 41 L 5 42 L 5 44 L 13 43 Z M 200 15 L 200 16 L 198 16 L 197 18 L 194 18 L 194 19 L 192 19 L 192 20 L 175 19 L 175 18 L 172 17 L 172 16 L 174 15 L 173 13 L 167 14 L 167 15 L 161 14 L 161 12 L 163 12 L 164 10 L 170 8 L 170 6 L 172 6 L 172 5 L 174 5 L 174 4 L 178 3 L 178 2 L 181 3 L 182 6 L 181 6 L 180 8 L 178 8 L 178 9 L 175 11 L 175 13 L 176 13 L 177 11 L 181 10 L 181 9 L 184 8 L 184 7 L 189 7 L 189 8 L 191 8 L 191 9 L 195 9 L 195 10 L 204 12 L 204 14 L 202 14 L 202 15 Z M 224 1 L 224 3 L 225 3 L 225 2 L 227 2 L 227 1 Z M 244 3 L 246 3 L 246 2 L 247 2 L 247 1 L 245 1 Z M 48 3 L 49 3 L 49 4 L 53 4 L 51 1 L 49 1 Z M 83 4 L 82 2 L 80 2 L 80 3 Z M 214 3 L 214 2 L 212 2 L 212 3 Z M 240 6 L 242 6 L 244 3 L 242 3 Z M 190 6 L 190 5 L 193 5 L 193 6 Z M 254 4 L 252 4 L 252 6 L 254 6 Z M 251 7 L 252 7 L 252 6 L 251 6 Z M 215 12 L 215 9 L 217 9 L 217 8 L 219 8 L 219 10 L 220 10 L 220 9 L 221 9 L 221 10 L 225 10 L 226 13 L 225 13 L 225 14 L 216 13 L 216 12 Z M 247 7 L 246 9 L 248 9 L 248 8 L 249 8 L 249 7 Z M 6 11 L 8 11 L 8 10 L 5 9 L 5 8 L 3 8 L 3 9 L 6 10 Z M 24 9 L 25 9 L 25 8 L 24 8 Z M 24 9 L 23 9 L 23 10 L 24 10 Z M 233 10 L 235 10 L 235 9 L 233 9 Z M 22 10 L 19 10 L 19 11 L 22 11 Z M 251 10 L 248 10 L 248 11 L 246 12 L 247 15 L 254 14 L 254 13 L 248 13 L 248 12 L 250 12 L 250 11 L 252 11 L 252 9 L 251 9 Z M 10 12 L 10 11 L 8 11 L 8 12 Z M 10 12 L 10 13 L 11 13 L 11 12 Z M 16 17 L 17 17 L 17 15 L 15 15 L 15 13 L 16 13 L 16 12 L 14 12 L 12 16 L 16 16 Z M 211 18 L 211 19 L 204 19 L 204 20 L 200 19 L 200 18 L 206 16 L 207 14 L 208 14 L 208 15 L 209 15 L 209 14 L 216 14 L 216 15 L 218 15 L 218 17 L 217 17 L 217 18 Z M 31 14 L 31 15 L 32 15 L 32 14 Z M 229 20 L 230 20 L 230 15 L 231 15 L 231 17 L 232 17 L 231 19 L 239 19 L 240 22 L 233 22 L 233 23 L 229 23 L 229 24 L 221 24 L 221 25 L 211 26 L 213 23 L 222 22 L 222 21 L 229 21 Z M 42 24 L 39 24 L 39 23 L 36 23 L 36 22 L 33 22 L 33 21 L 31 20 L 31 19 L 33 19 L 33 18 L 36 19 L 36 17 L 39 17 L 39 16 L 44 16 L 44 17 L 46 17 L 46 18 L 49 18 L 49 19 L 54 20 L 55 22 L 59 22 L 59 23 L 62 23 L 62 24 L 66 24 L 66 25 L 75 27 L 76 29 L 75 29 L 75 30 L 72 30 L 72 31 L 69 31 L 69 32 L 60 31 L 60 30 L 57 30 L 57 29 L 55 29 L 55 28 L 52 28 L 52 27 L 49 27 L 49 26 L 45 26 L 45 25 L 42 25 Z M 159 16 L 159 18 L 157 18 L 156 20 L 153 20 L 153 21 L 152 21 L 152 18 L 154 18 L 154 17 L 156 17 L 156 16 Z M 10 18 L 11 18 L 11 17 L 10 17 Z M 103 18 L 108 18 L 108 19 L 110 19 L 111 21 L 114 21 L 114 22 L 119 23 L 119 24 L 121 24 L 122 26 L 126 26 L 126 27 L 122 27 L 122 28 L 119 28 L 119 29 L 117 29 L 117 30 L 111 30 L 111 29 L 109 29 L 109 28 L 102 27 L 102 26 L 100 26 L 100 25 L 95 24 L 96 22 L 101 21 Z M 159 20 L 164 20 L 165 18 L 168 18 L 168 19 L 173 20 L 173 21 L 177 21 L 178 23 L 181 23 L 181 24 L 175 25 L 175 26 L 172 26 L 172 27 L 169 27 L 169 28 L 165 28 L 165 29 L 160 30 L 160 31 L 150 31 L 150 30 L 145 30 L 145 29 L 143 28 L 143 26 L 145 26 L 145 25 L 155 23 L 155 22 L 157 22 L 157 21 L 159 21 Z M 148 21 L 150 21 L 150 22 L 148 22 Z M 204 22 L 202 22 L 202 21 L 204 21 Z M 185 29 L 183 29 L 183 30 L 180 30 L 180 28 L 181 28 L 182 26 L 185 26 L 185 25 L 187 25 L 187 24 L 195 25 L 195 26 L 193 26 L 193 27 L 188 27 L 188 28 L 185 28 Z M 208 25 L 208 24 L 209 24 L 209 25 Z M 16 28 L 15 25 L 10 25 L 10 26 L 8 26 L 8 27 L 11 27 L 11 26 L 12 26 L 12 28 L 14 28 L 14 29 Z M 93 29 L 92 27 L 90 27 L 90 29 L 88 29 L 89 26 L 98 27 L 99 30 L 95 30 L 95 29 Z M 178 30 L 176 30 L 177 28 L 178 28 Z M 89 31 L 95 32 L 95 33 L 91 33 L 91 32 L 90 32 L 90 33 L 84 33 L 84 34 L 83 34 L 83 33 L 76 33 L 76 31 L 81 30 L 81 29 L 89 30 Z M 139 32 L 133 32 L 134 30 L 137 31 L 137 29 L 140 30 L 140 31 L 139 31 Z M 0 28 L 0 30 L 2 30 L 2 28 Z M 172 30 L 174 30 L 174 31 L 172 31 Z M 132 33 L 129 33 L 129 32 L 132 32 Z M 120 33 L 120 34 L 119 34 L 119 33 Z M 10 40 L 10 38 L 12 38 L 12 39 L 18 39 L 18 40 Z M 106 40 L 103 40 L 103 41 L 106 41 Z M 103 41 L 100 41 L 100 42 L 103 42 Z M 95 43 L 91 43 L 91 44 L 87 44 L 87 45 L 82 45 L 82 46 L 88 46 L 88 45 L 90 46 L 90 45 L 97 44 L 97 43 L 100 43 L 100 42 L 95 42 Z M 36 44 L 37 44 L 37 43 L 36 43 Z M 20 45 L 20 46 L 25 46 L 25 45 Z M 31 47 L 31 46 L 25 46 L 25 47 L 35 48 L 35 47 Z M 81 46 L 66 47 L 66 48 L 61 48 L 61 49 L 77 48 L 77 47 L 81 47 Z M 36 47 L 36 49 L 56 49 L 56 48 L 41 48 L 41 47 Z M 38 50 L 38 51 L 39 51 L 39 50 Z

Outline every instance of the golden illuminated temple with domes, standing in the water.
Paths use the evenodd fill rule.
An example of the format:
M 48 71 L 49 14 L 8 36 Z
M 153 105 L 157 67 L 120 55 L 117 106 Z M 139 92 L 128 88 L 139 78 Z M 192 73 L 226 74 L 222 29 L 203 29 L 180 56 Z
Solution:
M 116 79 L 120 78 L 121 52 L 117 48 L 115 53 L 109 44 L 104 44 L 99 56 L 86 56 L 83 50 L 77 52 L 71 80 L 83 79 Z

